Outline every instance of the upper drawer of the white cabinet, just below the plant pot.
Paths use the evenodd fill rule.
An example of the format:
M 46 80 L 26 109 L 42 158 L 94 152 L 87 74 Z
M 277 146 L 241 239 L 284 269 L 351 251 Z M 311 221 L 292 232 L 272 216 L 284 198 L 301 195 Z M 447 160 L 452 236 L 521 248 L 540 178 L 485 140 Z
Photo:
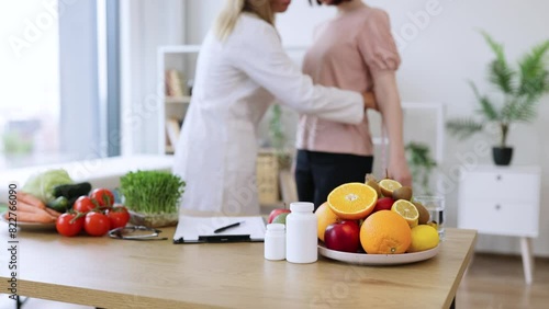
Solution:
M 536 202 L 539 176 L 526 173 L 466 172 L 461 180 L 462 196 L 479 201 L 502 198 L 515 202 Z

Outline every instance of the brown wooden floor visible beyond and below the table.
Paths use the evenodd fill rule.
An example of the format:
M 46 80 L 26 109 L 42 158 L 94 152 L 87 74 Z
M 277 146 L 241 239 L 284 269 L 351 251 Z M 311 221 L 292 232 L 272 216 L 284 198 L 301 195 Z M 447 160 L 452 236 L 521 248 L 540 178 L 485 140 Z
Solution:
M 0 309 L 14 309 L 0 294 Z M 92 307 L 29 299 L 23 309 L 88 309 Z M 475 254 L 458 289 L 456 308 L 545 309 L 549 308 L 549 259 L 536 259 L 534 283 L 524 281 L 519 256 Z M 429 308 L 426 308 L 429 309 Z

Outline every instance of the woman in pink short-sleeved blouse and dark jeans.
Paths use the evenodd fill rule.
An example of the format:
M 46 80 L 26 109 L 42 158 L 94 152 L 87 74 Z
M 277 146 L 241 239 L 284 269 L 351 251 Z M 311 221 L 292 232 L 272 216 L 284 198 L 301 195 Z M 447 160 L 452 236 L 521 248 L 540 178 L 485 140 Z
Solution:
M 389 174 L 403 185 L 411 185 L 395 80 L 401 59 L 388 14 L 360 0 L 317 2 L 337 5 L 338 13 L 316 28 L 315 41 L 304 58 L 303 71 L 318 84 L 374 92 L 390 139 Z M 336 186 L 365 181 L 373 164 L 368 126 L 366 116 L 361 124 L 349 125 L 301 115 L 295 165 L 300 201 L 314 202 L 318 207 Z

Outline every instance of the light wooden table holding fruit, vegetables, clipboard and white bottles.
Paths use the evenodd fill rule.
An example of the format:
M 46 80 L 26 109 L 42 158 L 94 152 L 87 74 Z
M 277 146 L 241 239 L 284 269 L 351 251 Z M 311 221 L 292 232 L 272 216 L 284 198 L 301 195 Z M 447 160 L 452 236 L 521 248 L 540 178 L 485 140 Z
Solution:
M 0 285 L 9 279 L 0 225 Z M 172 244 L 108 237 L 18 233 L 18 294 L 102 308 L 448 308 L 477 232 L 447 229 L 432 260 L 358 266 L 264 259 L 262 243 Z M 5 295 L 4 295 L 5 296 Z

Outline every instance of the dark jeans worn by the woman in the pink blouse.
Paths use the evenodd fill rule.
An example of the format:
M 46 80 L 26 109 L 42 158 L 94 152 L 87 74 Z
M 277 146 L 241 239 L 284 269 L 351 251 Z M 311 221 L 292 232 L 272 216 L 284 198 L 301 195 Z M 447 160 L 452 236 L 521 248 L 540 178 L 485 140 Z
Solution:
M 365 182 L 371 173 L 372 156 L 355 156 L 298 150 L 295 184 L 300 202 L 313 202 L 318 208 L 328 194 L 344 183 Z

